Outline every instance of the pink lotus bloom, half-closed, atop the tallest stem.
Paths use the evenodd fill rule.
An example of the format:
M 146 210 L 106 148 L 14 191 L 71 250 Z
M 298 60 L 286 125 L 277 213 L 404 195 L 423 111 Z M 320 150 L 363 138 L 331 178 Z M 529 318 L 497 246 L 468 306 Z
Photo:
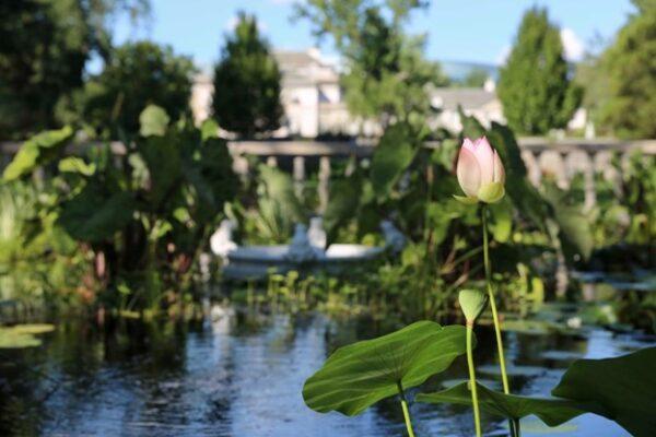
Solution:
M 456 168 L 458 184 L 467 197 L 456 196 L 466 203 L 479 200 L 485 203 L 500 201 L 504 193 L 505 172 L 499 153 L 485 137 L 471 141 L 466 138 L 458 155 Z

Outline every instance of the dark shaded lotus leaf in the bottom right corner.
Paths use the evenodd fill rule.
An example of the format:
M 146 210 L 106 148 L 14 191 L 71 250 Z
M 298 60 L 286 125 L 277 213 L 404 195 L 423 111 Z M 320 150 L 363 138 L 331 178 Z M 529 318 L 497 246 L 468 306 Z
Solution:
M 607 359 L 574 362 L 551 394 L 596 402 L 636 437 L 656 436 L 656 347 Z

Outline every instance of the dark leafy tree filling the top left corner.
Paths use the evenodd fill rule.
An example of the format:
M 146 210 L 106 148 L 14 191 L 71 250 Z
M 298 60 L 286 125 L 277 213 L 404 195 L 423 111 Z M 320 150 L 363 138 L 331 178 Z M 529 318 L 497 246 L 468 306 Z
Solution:
M 94 52 L 106 56 L 107 21 L 148 13 L 148 0 L 0 2 L 0 138 L 21 138 L 58 123 L 55 109 L 83 83 Z

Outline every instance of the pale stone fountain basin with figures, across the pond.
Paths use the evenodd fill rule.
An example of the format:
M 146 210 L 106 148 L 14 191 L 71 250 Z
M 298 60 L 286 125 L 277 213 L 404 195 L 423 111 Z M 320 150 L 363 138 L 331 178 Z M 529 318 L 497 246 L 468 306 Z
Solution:
M 384 221 L 380 227 L 386 238 L 385 247 L 333 244 L 326 249 L 326 233 L 320 217 L 311 220 L 309 229 L 296 224 L 289 245 L 272 246 L 237 246 L 232 240 L 234 223 L 222 223 L 212 235 L 211 248 L 223 259 L 223 275 L 227 279 L 258 280 L 271 272 L 291 270 L 339 273 L 353 264 L 373 260 L 385 250 L 396 253 L 402 249 L 405 237 L 391 222 Z

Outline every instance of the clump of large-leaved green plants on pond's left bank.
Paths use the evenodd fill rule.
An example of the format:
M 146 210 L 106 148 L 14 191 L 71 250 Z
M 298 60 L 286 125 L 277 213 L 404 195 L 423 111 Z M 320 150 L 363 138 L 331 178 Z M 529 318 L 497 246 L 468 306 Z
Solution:
M 83 244 L 80 252 L 95 259 L 96 280 L 107 286 L 104 298 L 110 306 L 156 305 L 167 283 L 183 291 L 237 188 L 226 142 L 215 129 L 181 121 L 169 126 L 157 107 L 144 110 L 141 121 L 148 137 L 138 137 L 120 158 L 108 146 L 61 158 L 55 166 L 60 173 L 48 175 L 46 184 L 52 190 L 51 203 L 43 206 L 47 220 L 39 220 Z M 51 149 L 65 146 L 70 133 L 27 141 L 8 167 L 11 175 L 26 176 L 57 157 Z M 45 152 L 37 147 L 26 163 L 24 150 L 34 144 Z M 119 287 L 126 277 L 132 287 Z

